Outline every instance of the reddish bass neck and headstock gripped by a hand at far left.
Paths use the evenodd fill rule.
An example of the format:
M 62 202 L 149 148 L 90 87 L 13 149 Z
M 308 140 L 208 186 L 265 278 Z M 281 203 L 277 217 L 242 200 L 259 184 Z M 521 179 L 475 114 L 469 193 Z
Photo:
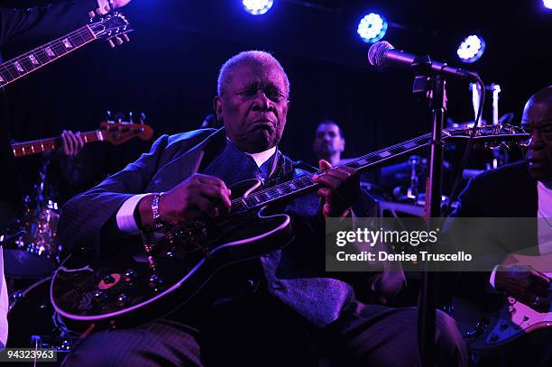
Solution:
M 104 121 L 98 130 L 81 133 L 85 144 L 90 142 L 111 142 L 114 145 L 127 142 L 133 137 L 150 140 L 152 127 L 147 124 L 132 124 L 120 121 Z M 47 138 L 32 142 L 15 142 L 12 144 L 15 158 L 54 151 L 61 145 L 61 138 Z

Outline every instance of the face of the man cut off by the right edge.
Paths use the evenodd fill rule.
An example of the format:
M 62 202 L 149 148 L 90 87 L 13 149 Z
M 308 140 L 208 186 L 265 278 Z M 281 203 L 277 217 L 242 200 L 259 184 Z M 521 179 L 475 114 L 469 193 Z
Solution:
M 530 134 L 525 161 L 533 179 L 552 181 L 552 106 L 529 101 L 523 110 L 521 127 Z

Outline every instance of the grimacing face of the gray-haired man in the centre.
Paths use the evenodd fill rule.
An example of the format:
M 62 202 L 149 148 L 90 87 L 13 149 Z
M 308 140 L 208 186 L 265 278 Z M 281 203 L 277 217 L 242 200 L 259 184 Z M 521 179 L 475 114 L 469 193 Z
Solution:
M 246 61 L 231 71 L 223 93 L 215 98 L 216 115 L 241 151 L 266 151 L 280 142 L 290 104 L 281 69 Z

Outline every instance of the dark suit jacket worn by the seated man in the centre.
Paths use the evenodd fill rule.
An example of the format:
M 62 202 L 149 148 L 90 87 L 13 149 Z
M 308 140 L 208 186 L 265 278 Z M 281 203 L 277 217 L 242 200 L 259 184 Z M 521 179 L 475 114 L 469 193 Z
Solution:
M 62 243 L 71 251 L 94 254 L 121 251 L 128 236 L 118 231 L 115 216 L 129 197 L 169 190 L 196 172 L 217 176 L 226 185 L 258 175 L 253 159 L 232 147 L 224 129 L 161 136 L 153 143 L 152 150 L 138 161 L 96 188 L 69 200 L 60 218 Z M 295 169 L 292 176 L 304 173 Z M 367 216 L 372 204 L 371 198 L 364 195 L 354 206 L 357 215 Z M 325 230 L 317 216 L 318 207 L 316 193 L 292 200 L 285 212 L 292 217 L 296 240 L 282 250 L 262 256 L 261 262 L 269 292 L 313 325 L 323 327 L 336 320 L 355 295 L 347 282 L 327 278 L 323 250 Z M 317 255 L 313 257 L 313 254 Z M 386 296 L 392 295 L 403 285 L 402 274 L 397 276 L 399 279 L 371 274 L 365 277 L 365 287 L 371 289 L 370 282 L 384 280 L 385 284 L 379 284 L 378 288 Z

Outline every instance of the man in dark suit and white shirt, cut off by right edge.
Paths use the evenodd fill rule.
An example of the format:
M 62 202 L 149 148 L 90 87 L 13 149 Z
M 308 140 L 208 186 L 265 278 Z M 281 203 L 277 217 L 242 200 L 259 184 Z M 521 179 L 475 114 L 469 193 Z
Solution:
M 501 225 L 499 231 L 511 231 L 511 235 L 502 237 L 506 241 L 501 241 L 501 248 L 497 248 L 501 257 L 520 253 L 531 256 L 525 258 L 523 265 L 502 265 L 499 261 L 494 262 L 492 271 L 464 273 L 459 286 L 468 298 L 487 308 L 503 304 L 505 294 L 546 312 L 550 303 L 550 279 L 543 272 L 551 271 L 552 265 L 535 268 L 544 262 L 542 256 L 552 252 L 552 87 L 529 98 L 521 126 L 530 134 L 524 161 L 484 172 L 470 180 L 459 197 L 454 216 L 506 218 L 504 222 L 492 219 L 494 224 Z M 526 221 L 524 218 L 537 219 Z M 521 240 L 508 241 L 511 236 Z M 473 244 L 483 247 L 483 243 Z M 545 330 L 509 344 L 501 365 L 550 365 L 552 344 L 549 340 L 550 333 Z

